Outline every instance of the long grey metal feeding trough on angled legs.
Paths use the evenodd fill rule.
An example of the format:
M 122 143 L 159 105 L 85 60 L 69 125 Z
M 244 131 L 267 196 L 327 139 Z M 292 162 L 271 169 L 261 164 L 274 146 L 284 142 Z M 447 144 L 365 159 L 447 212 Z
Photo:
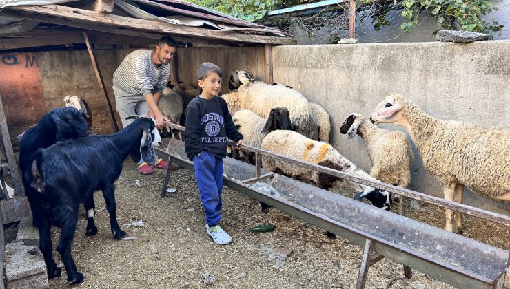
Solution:
M 257 151 L 263 153 L 260 149 Z M 170 164 L 174 162 L 193 171 L 193 163 L 187 159 L 181 140 L 163 140 L 156 153 L 168 158 Z M 405 276 L 409 278 L 410 268 L 414 268 L 458 288 L 503 288 L 505 270 L 509 266 L 506 250 L 265 171 L 259 166 L 232 158 L 226 158 L 223 164 L 225 185 L 364 246 L 356 288 L 365 286 L 369 266 L 383 257 L 404 264 Z M 163 183 L 163 196 L 170 167 Z M 254 182 L 269 184 L 279 195 L 254 189 L 250 186 Z

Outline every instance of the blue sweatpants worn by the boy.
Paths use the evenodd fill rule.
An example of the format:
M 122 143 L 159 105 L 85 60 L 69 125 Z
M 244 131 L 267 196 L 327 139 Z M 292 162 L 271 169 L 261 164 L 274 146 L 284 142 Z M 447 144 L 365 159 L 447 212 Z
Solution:
M 196 184 L 205 209 L 205 222 L 214 226 L 221 219 L 221 190 L 223 189 L 223 159 L 209 151 L 193 158 Z

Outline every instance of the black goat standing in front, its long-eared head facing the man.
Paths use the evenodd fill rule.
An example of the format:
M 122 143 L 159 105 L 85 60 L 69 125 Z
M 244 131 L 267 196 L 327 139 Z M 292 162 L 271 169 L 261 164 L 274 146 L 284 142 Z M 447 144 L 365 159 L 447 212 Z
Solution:
M 38 220 L 39 248 L 46 262 L 48 277 L 61 275 L 52 257 L 51 226 L 54 224 L 62 228 L 57 251 L 68 273 L 68 281 L 83 281 L 83 274 L 76 270 L 72 259 L 71 245 L 81 202 L 88 212 L 86 234 L 97 233 L 94 191 L 103 191 L 114 237 L 121 239 L 125 235 L 116 220 L 114 182 L 121 174 L 123 161 L 134 151 L 139 150 L 143 160 L 153 165 L 156 156 L 152 144 L 160 141 L 154 120 L 142 117 L 112 135 L 58 142 L 34 154 L 32 166 L 23 171 L 23 179 L 30 180 L 30 187 L 39 194 L 39 203 L 32 204 L 34 199 L 30 198 L 29 202 L 32 208 L 37 208 L 32 215 L 34 220 Z

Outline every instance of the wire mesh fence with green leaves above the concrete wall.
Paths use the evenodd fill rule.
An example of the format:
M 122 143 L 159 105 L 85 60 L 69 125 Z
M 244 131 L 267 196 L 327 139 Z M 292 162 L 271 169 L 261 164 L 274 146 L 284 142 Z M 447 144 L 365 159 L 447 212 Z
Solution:
M 420 6 L 409 12 L 409 1 L 436 3 L 436 6 Z M 476 3 L 471 3 L 473 1 Z M 510 39 L 510 0 L 496 0 L 490 4 L 484 1 L 356 0 L 356 12 L 353 15 L 355 17 L 354 38 L 360 43 L 435 41 L 435 33 L 440 29 L 467 30 L 465 28 L 471 28 L 469 30 L 484 30 L 491 34 L 493 39 Z M 445 3 L 456 3 L 457 6 L 453 9 L 449 7 L 451 4 Z M 480 10 L 484 13 L 477 12 Z M 471 17 L 470 11 L 477 13 L 473 15 L 475 22 L 467 21 Z M 409 15 L 410 13 L 412 15 Z M 298 44 L 327 44 L 337 43 L 339 39 L 349 37 L 350 16 L 349 1 L 345 0 L 343 3 L 320 10 L 278 15 L 264 24 L 278 26 L 297 39 Z M 479 18 L 476 19 L 477 17 Z M 473 29 L 467 26 L 474 25 L 471 23 L 483 25 L 483 27 L 476 26 Z

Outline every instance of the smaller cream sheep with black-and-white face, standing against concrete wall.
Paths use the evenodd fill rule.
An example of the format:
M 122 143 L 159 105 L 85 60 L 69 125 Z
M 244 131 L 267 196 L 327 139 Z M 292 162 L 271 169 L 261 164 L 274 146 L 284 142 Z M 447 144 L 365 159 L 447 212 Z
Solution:
M 368 156 L 372 162 L 370 175 L 381 182 L 407 188 L 411 181 L 411 165 L 414 153 L 402 131 L 388 131 L 369 122 L 362 114 L 350 114 L 340 127 L 347 138 L 356 134 L 365 140 Z M 398 213 L 402 214 L 400 197 L 394 196 Z

